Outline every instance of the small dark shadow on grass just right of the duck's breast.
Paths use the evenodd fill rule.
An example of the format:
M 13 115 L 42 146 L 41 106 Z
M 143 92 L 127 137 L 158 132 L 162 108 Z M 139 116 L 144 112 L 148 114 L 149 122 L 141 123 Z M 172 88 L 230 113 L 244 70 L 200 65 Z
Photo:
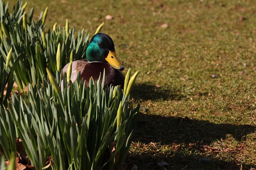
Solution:
M 133 98 L 140 100 L 181 100 L 185 96 L 175 89 L 169 87 L 156 86 L 148 83 L 135 84 L 132 88 L 131 95 Z

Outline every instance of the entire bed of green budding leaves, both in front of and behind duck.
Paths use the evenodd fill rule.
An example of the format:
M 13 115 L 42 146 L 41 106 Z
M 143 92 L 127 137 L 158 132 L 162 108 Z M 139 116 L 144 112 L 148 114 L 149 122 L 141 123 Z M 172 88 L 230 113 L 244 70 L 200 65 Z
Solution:
M 25 8 L 18 0 L 9 13 L 8 2 L 0 2 L 0 168 L 5 159 L 12 169 L 18 152 L 35 169 L 121 169 L 139 111 L 129 102 L 138 71 L 130 76 L 128 70 L 123 90 L 104 88 L 104 73 L 101 83 L 91 79 L 87 87 L 80 74 L 69 80 L 71 70 L 62 77 L 70 58 L 84 57 L 89 36 L 84 30 L 75 36 L 68 20 L 65 28 L 55 24 L 44 32 L 48 8 L 37 22 L 33 9 L 27 19 Z M 14 80 L 28 92 L 10 99 Z

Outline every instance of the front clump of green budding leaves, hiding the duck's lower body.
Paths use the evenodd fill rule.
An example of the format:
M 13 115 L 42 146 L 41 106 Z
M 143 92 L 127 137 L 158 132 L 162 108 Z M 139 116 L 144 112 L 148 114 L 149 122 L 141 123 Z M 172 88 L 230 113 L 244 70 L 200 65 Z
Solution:
M 104 89 L 104 75 L 102 83 L 91 79 L 87 87 L 80 74 L 76 82 L 67 84 L 58 71 L 56 80 L 49 72 L 42 84 L 29 84 L 28 94 L 14 94 L 8 109 L 1 108 L 1 121 L 8 120 L 0 135 L 6 158 L 16 151 L 19 137 L 36 169 L 122 168 L 139 110 L 139 105 L 134 108 L 129 103 L 137 74 L 126 76 L 126 90 Z

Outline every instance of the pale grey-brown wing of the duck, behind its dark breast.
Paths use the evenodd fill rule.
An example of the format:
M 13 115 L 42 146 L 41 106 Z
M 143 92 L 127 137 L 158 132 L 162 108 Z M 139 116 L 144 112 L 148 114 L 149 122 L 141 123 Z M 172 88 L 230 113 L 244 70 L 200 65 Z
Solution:
M 62 69 L 62 76 L 64 73 L 66 73 L 68 71 L 69 64 L 70 63 L 66 64 L 66 66 L 64 66 L 64 68 Z M 72 82 L 74 82 L 76 80 L 76 77 L 77 77 L 77 74 L 79 71 L 82 74 L 86 64 L 88 64 L 88 61 L 86 59 L 77 60 L 77 61 L 72 62 L 72 72 L 71 72 L 71 76 L 70 76 L 70 80 Z

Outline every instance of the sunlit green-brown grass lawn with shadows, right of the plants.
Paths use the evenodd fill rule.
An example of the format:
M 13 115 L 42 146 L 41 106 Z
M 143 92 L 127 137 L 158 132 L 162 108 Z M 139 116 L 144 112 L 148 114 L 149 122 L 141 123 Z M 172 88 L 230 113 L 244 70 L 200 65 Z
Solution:
M 126 70 L 140 70 L 127 169 L 256 168 L 255 0 L 27 2 L 36 18 L 49 7 L 49 28 L 68 18 L 94 35 L 104 21 Z

